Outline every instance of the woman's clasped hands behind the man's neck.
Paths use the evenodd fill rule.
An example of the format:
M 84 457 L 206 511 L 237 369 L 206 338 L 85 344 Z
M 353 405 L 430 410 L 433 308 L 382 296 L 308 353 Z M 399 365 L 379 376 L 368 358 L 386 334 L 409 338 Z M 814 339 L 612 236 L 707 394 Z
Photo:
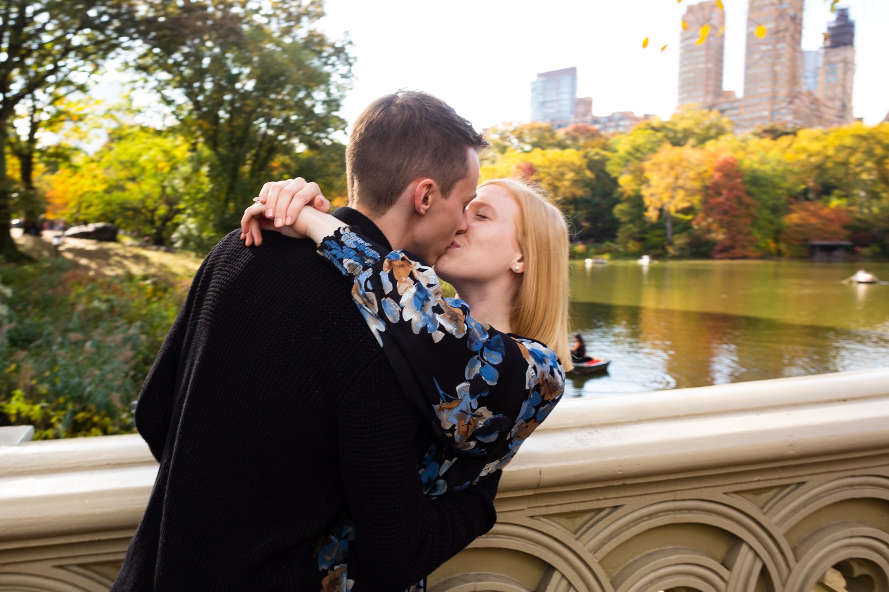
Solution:
M 244 209 L 244 216 L 241 217 L 241 240 L 248 247 L 262 244 L 263 230 L 276 230 L 295 239 L 305 238 L 304 231 L 292 227 L 300 209 L 311 205 L 319 211 L 328 212 L 331 207 L 318 185 L 307 183 L 304 178 L 266 183 L 255 201 Z

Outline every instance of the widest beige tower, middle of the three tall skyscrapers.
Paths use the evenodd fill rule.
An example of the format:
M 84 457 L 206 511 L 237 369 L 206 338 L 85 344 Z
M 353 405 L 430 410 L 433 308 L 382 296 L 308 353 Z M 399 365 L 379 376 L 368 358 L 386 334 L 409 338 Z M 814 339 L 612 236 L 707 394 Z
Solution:
M 765 27 L 765 36 L 757 28 Z M 747 54 L 744 98 L 735 131 L 757 125 L 801 125 L 791 103 L 802 91 L 803 0 L 750 0 L 747 11 Z

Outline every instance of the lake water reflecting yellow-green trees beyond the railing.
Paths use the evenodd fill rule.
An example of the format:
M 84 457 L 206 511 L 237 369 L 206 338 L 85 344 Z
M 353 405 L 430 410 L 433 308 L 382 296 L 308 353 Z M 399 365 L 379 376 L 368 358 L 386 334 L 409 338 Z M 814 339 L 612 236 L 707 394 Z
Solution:
M 607 375 L 566 397 L 889 367 L 889 284 L 843 284 L 860 266 L 808 261 L 572 263 L 572 328 Z

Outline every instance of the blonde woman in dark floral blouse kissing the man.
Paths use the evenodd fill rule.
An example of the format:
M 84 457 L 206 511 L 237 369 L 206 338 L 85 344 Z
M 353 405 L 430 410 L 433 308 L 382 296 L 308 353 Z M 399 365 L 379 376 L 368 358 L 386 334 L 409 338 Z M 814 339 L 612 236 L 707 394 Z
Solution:
M 244 212 L 248 246 L 262 240 L 263 209 Z M 352 276 L 364 320 L 404 393 L 428 416 L 420 477 L 430 496 L 465 489 L 509 463 L 561 398 L 571 368 L 561 213 L 532 186 L 497 179 L 478 187 L 465 216 L 434 271 L 311 207 L 291 226 L 291 235 L 316 241 L 319 255 Z M 459 298 L 445 298 L 439 276 Z M 355 536 L 345 519 L 319 542 L 323 590 L 361 589 L 348 569 Z M 411 589 L 422 588 L 421 581 Z

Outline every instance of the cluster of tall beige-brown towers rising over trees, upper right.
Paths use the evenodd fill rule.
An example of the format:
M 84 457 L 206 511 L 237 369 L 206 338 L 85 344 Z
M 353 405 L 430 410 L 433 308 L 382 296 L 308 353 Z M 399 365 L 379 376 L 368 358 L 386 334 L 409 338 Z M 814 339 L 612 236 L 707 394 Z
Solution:
M 848 8 L 836 10 L 823 46 L 801 47 L 803 0 L 749 0 L 743 96 L 723 89 L 721 43 L 701 43 L 696 31 L 721 29 L 717 0 L 688 7 L 680 48 L 678 107 L 716 109 L 744 133 L 765 124 L 833 127 L 855 121 L 855 24 Z M 765 31 L 765 35 L 761 33 Z M 717 80 L 718 79 L 718 80 Z

